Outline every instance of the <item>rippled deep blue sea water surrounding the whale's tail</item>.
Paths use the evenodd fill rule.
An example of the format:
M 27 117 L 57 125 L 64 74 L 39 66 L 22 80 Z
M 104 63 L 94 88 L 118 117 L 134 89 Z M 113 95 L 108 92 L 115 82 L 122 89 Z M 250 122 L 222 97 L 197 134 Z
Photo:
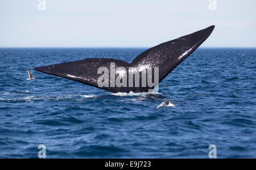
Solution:
M 0 157 L 256 158 L 256 49 L 200 48 L 154 94 L 113 94 L 34 67 L 143 48 L 0 48 Z M 26 69 L 35 80 L 27 80 Z M 156 109 L 170 100 L 175 108 Z

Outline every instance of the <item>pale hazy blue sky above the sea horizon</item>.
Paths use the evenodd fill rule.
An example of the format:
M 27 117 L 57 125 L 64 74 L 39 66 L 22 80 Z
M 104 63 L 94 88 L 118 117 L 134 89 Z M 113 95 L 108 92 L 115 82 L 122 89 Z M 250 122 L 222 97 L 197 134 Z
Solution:
M 1 0 L 0 47 L 152 47 L 212 24 L 203 47 L 256 47 L 256 1 L 216 2 Z

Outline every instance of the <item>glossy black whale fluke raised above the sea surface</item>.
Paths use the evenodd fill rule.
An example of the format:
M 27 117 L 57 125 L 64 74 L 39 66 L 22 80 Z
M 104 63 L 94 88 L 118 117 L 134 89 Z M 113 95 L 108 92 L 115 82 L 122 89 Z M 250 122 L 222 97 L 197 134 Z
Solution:
M 151 80 L 154 79 L 155 82 L 160 82 L 175 67 L 177 67 L 177 65 L 191 55 L 191 53 L 210 36 L 213 30 L 214 26 L 210 26 L 204 30 L 200 30 L 189 35 L 181 36 L 175 40 L 156 45 L 155 47 L 142 52 L 131 63 L 126 63 L 125 61 L 115 59 L 85 59 L 81 61 L 53 64 L 44 67 L 35 67 L 34 69 L 39 72 L 68 78 L 70 80 L 82 82 L 84 84 L 92 85 L 114 93 L 129 93 L 131 91 L 134 93 L 148 92 L 148 90 L 152 89 L 152 86 L 150 86 L 150 84 L 143 84 L 143 74 L 139 73 L 139 83 L 135 84 L 135 76 L 129 76 L 129 68 L 138 68 L 139 71 L 148 71 L 148 68 L 158 68 L 158 81 L 156 81 L 154 78 L 155 72 L 151 72 L 151 77 L 146 76 L 146 82 L 148 82 L 150 78 Z M 114 67 L 112 68 L 123 68 L 127 71 L 123 73 L 125 74 L 125 77 L 127 77 L 127 82 L 124 81 L 124 79 L 122 80 L 122 83 L 126 83 L 126 86 L 112 86 L 112 82 L 118 80 L 121 75 L 120 72 L 115 72 L 114 80 L 111 78 L 112 63 L 114 63 Z M 102 72 L 99 73 L 98 69 L 103 67 L 106 68 L 105 71 L 108 72 L 107 75 L 110 75 L 110 78 L 105 77 L 103 80 L 109 80 L 109 82 L 105 86 L 100 86 L 98 84 L 98 79 L 102 76 Z M 132 86 L 128 85 L 130 84 L 130 81 L 133 83 Z

